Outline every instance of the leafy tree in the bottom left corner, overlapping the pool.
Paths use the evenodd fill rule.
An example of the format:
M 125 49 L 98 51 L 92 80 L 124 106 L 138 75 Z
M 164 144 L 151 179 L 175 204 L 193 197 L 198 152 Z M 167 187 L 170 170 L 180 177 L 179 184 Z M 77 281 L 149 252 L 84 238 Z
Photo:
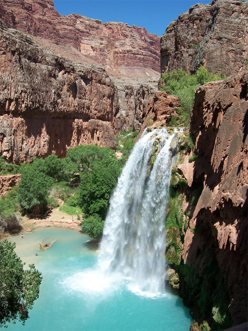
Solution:
M 34 265 L 24 270 L 14 248 L 6 239 L 0 243 L 0 327 L 16 320 L 24 325 L 28 309 L 39 297 L 41 272 Z

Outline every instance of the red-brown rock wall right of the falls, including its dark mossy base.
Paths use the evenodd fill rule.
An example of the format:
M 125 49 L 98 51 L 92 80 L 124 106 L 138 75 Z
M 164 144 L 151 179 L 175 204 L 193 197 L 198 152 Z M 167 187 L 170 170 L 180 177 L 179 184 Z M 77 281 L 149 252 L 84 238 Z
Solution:
M 196 90 L 190 133 L 195 161 L 176 170 L 188 179 L 179 293 L 201 330 L 224 329 L 247 321 L 248 71 Z

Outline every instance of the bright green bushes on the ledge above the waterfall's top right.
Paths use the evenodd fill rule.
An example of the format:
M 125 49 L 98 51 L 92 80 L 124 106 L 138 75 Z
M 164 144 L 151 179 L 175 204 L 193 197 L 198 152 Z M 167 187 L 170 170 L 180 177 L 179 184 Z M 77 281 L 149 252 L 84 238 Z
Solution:
M 198 46 L 196 46 L 197 48 Z M 165 82 L 162 91 L 169 90 L 170 94 L 177 95 L 182 108 L 177 109 L 177 116 L 173 117 L 170 126 L 189 126 L 191 109 L 194 101 L 194 91 L 203 83 L 225 78 L 222 74 L 208 72 L 200 66 L 195 74 L 189 74 L 183 69 L 173 70 L 162 74 L 161 80 Z

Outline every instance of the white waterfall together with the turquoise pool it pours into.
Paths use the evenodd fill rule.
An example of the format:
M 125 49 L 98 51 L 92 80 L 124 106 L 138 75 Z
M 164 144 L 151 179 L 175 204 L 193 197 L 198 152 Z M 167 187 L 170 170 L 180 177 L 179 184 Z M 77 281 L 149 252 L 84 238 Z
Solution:
M 100 253 L 87 236 L 38 229 L 10 237 L 24 262 L 42 271 L 40 297 L 25 331 L 186 331 L 182 299 L 164 288 L 164 217 L 171 173 L 167 132 L 135 145 L 111 198 Z M 55 241 L 46 251 L 38 243 Z

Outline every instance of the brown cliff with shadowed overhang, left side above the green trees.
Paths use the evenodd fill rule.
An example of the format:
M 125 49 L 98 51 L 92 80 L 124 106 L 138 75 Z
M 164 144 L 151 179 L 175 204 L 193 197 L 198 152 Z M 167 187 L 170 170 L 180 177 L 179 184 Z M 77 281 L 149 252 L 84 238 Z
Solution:
M 0 153 L 31 161 L 68 147 L 115 148 L 118 93 L 103 68 L 82 65 L 0 25 Z

